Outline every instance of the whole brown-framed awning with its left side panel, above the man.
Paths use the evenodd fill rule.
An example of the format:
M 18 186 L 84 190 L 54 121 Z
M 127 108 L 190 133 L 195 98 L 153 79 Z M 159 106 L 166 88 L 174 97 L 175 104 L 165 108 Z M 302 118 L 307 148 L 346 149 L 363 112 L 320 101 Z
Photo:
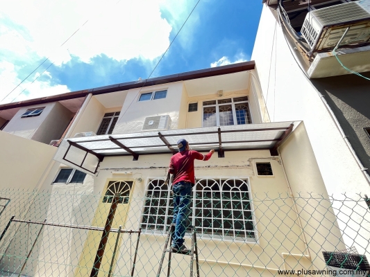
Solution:
M 220 158 L 225 151 L 263 149 L 276 156 L 293 126 L 292 122 L 262 123 L 64 139 L 54 159 L 91 175 L 107 156 L 131 155 L 137 161 L 142 154 L 175 154 L 179 139 L 186 139 L 193 150 L 215 149 Z

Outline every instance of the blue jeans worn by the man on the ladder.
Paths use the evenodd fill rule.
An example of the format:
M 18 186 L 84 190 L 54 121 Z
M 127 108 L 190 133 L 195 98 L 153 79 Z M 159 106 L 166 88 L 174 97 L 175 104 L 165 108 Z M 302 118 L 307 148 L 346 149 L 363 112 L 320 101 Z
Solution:
M 192 184 L 187 181 L 179 181 L 174 184 L 174 219 L 173 224 L 176 224 L 175 231 L 172 236 L 171 247 L 180 248 L 184 244 L 184 235 L 190 213 L 190 204 L 192 200 Z

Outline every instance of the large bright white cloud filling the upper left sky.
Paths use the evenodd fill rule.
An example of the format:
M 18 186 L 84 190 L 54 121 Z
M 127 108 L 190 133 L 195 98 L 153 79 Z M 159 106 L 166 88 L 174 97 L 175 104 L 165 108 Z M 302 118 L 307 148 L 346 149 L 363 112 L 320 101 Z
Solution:
M 0 10 L 0 55 L 3 53 L 3 62 L 15 64 L 15 67 L 2 70 L 1 75 L 12 75 L 10 79 L 1 77 L 6 82 L 1 83 L 2 91 L 8 93 L 17 85 L 17 80 L 26 76 L 17 74 L 22 66 L 35 64 L 36 67 L 46 57 L 56 66 L 69 62 L 72 56 L 86 63 L 97 55 L 123 62 L 133 58 L 152 62 L 165 52 L 173 26 L 176 32 L 195 1 L 3 1 Z M 161 10 L 166 12 L 170 23 L 163 18 Z M 197 20 L 196 17 L 187 25 L 194 25 L 194 20 Z M 61 46 L 74 32 L 73 37 Z M 184 41 L 190 40 L 192 28 L 181 32 L 183 38 L 187 37 Z M 40 72 L 42 70 L 44 68 L 40 68 Z M 50 73 L 47 75 L 52 78 Z M 29 82 L 22 84 L 22 87 L 26 84 Z M 46 89 L 41 86 L 43 82 L 36 81 L 35 84 L 40 84 L 40 89 Z M 12 95 L 17 95 L 19 89 Z M 38 96 L 38 93 L 31 93 L 28 87 L 27 93 L 28 98 Z

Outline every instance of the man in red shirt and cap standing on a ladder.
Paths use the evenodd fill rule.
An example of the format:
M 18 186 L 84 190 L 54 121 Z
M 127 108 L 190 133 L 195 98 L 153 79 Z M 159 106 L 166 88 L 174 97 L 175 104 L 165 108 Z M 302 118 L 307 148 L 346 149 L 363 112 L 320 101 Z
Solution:
M 174 219 L 172 223 L 176 224 L 170 249 L 175 252 L 187 252 L 190 250 L 184 245 L 184 235 L 190 213 L 192 186 L 195 184 L 194 160 L 208 161 L 215 150 L 210 150 L 206 155 L 189 150 L 189 143 L 185 139 L 180 139 L 177 146 L 178 153 L 171 157 L 169 163 L 169 173 L 174 175 L 172 182 Z

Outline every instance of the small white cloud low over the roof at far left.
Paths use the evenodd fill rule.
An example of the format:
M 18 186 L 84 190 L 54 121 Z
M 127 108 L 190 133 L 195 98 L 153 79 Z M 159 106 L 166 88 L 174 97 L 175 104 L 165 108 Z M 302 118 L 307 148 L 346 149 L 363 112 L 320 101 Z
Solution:
M 50 75 L 49 72 L 45 71 L 46 75 Z M 35 73 L 32 76 L 32 80 L 34 80 L 37 75 L 40 73 Z M 35 82 L 31 83 L 32 80 L 26 80 L 23 82 L 15 91 L 15 93 L 11 93 L 10 96 L 6 97 L 12 89 L 14 89 L 17 84 L 21 82 L 21 80 L 17 77 L 17 72 L 15 71 L 14 64 L 10 62 L 0 62 L 0 84 L 1 84 L 1 93 L 0 93 L 0 104 L 4 104 L 7 102 L 14 101 L 21 101 L 30 98 L 39 98 L 43 96 L 51 96 L 60 93 L 69 92 L 69 89 L 66 85 L 62 84 L 51 84 L 50 80 L 41 81 L 35 80 Z M 21 93 L 26 88 L 25 93 Z M 3 101 L 1 101 L 4 97 L 6 97 Z

